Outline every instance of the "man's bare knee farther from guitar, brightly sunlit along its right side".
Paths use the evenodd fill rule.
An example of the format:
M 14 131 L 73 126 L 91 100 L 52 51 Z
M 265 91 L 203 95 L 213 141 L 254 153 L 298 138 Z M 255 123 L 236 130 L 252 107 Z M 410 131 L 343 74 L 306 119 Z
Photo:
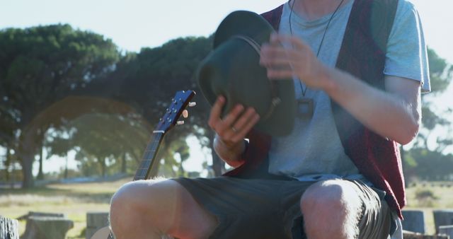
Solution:
M 309 239 L 357 238 L 362 203 L 352 182 L 316 182 L 302 195 L 301 210 Z

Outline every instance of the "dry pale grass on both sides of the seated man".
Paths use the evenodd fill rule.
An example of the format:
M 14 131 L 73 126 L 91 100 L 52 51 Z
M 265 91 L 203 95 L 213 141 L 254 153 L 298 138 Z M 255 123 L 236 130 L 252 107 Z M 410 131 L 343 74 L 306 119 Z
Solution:
M 1 190 L 0 215 L 17 218 L 28 211 L 63 213 L 74 221 L 74 228 L 68 232 L 69 239 L 85 238 L 86 213 L 108 211 L 110 197 L 125 182 L 127 177 L 114 182 L 91 182 L 79 184 L 56 184 L 33 190 Z M 418 192 L 428 190 L 433 197 L 420 198 Z M 453 209 L 453 182 L 419 183 L 407 190 L 408 206 L 405 209 L 420 209 L 425 212 L 427 233 L 433 234 L 432 210 Z M 25 221 L 19 222 L 19 231 L 25 231 Z

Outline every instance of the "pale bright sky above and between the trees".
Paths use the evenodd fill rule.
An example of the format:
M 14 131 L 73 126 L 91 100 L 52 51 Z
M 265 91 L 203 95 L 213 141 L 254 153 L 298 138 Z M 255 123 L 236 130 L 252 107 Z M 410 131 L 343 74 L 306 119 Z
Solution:
M 411 2 L 418 8 L 428 46 L 453 63 L 453 1 Z M 112 39 L 122 51 L 139 52 L 142 47 L 159 47 L 177 37 L 208 36 L 231 11 L 263 13 L 283 3 L 285 0 L 0 0 L 0 29 L 69 23 Z M 441 107 L 453 106 L 449 95 L 453 95 L 453 84 L 437 99 Z M 195 149 L 193 155 L 204 157 Z M 47 164 L 57 167 L 58 163 Z M 188 167 L 192 165 L 197 165 L 194 170 L 201 167 L 189 161 Z

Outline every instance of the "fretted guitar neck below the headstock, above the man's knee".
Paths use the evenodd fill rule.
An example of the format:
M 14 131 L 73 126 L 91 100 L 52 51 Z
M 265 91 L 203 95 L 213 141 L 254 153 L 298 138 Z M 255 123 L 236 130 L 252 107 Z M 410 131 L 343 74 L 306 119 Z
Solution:
M 164 139 L 164 134 L 164 131 L 153 132 L 153 136 L 148 143 L 147 149 L 143 153 L 142 162 L 135 173 L 134 181 L 148 179 L 151 168 L 155 163 L 154 161 L 156 161 L 157 150 L 159 149 L 162 139 Z

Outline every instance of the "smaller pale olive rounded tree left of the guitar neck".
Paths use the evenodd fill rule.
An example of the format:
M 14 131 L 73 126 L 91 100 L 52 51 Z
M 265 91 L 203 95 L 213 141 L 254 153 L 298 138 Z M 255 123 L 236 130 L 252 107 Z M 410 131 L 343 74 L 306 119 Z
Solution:
M 108 173 L 108 164 L 120 165 L 126 173 L 127 158 L 136 159 L 133 164 L 136 169 L 149 139 L 149 127 L 144 123 L 138 116 L 132 119 L 113 114 L 84 115 L 71 122 L 77 129 L 72 137 L 73 146 L 79 148 L 79 159 L 91 158 L 99 163 L 103 177 Z

